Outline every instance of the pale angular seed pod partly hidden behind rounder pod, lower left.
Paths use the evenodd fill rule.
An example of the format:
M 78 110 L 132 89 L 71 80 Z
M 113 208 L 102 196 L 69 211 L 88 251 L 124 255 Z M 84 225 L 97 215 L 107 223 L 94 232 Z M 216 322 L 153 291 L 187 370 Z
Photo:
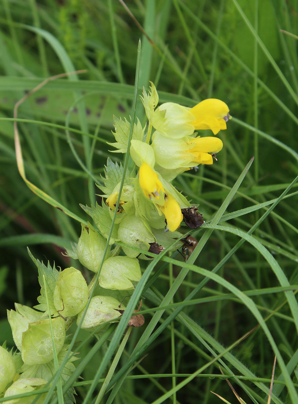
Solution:
M 13 340 L 19 351 L 22 351 L 22 335 L 27 331 L 30 322 L 36 322 L 42 318 L 46 318 L 44 313 L 31 309 L 31 307 L 23 306 L 15 303 L 14 310 L 7 310 L 8 322 L 13 332 Z

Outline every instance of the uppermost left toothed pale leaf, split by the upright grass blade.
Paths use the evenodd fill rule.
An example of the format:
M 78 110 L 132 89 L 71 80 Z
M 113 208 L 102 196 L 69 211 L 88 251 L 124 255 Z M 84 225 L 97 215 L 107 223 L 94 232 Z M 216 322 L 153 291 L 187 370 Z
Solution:
M 107 142 L 107 143 L 108 145 L 113 146 L 116 149 L 119 149 L 119 150 L 112 150 L 113 153 L 126 153 L 130 131 L 130 122 L 128 122 L 126 118 L 124 118 L 124 120 L 122 120 L 121 118 L 118 119 L 116 116 L 114 116 L 113 118 L 115 127 L 115 132 L 113 132 L 113 135 L 115 136 L 116 142 L 115 143 Z M 137 123 L 134 124 L 132 130 L 132 139 L 143 141 L 145 129 L 146 126 L 142 128 L 141 122 L 137 118 Z

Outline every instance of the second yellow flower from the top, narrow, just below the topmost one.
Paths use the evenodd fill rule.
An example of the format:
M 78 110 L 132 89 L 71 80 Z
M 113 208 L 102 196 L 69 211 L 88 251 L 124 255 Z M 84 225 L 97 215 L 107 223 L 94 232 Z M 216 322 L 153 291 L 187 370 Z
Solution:
M 222 141 L 218 137 L 209 136 L 197 137 L 189 145 L 193 145 L 193 147 L 187 152 L 195 156 L 192 161 L 197 164 L 213 164 L 212 156 L 216 155 L 223 147 Z

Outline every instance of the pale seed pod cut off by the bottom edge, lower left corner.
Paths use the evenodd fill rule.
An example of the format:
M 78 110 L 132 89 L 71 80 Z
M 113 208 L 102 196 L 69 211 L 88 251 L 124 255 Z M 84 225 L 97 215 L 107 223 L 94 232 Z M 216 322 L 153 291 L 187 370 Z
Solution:
M 48 383 L 44 379 L 36 379 L 35 377 L 28 377 L 23 379 L 18 379 L 6 390 L 4 397 L 16 396 L 17 394 L 29 393 L 30 391 L 36 391 L 42 389 L 46 383 Z M 8 404 L 31 404 L 36 400 L 36 395 L 30 397 L 22 397 L 22 398 L 13 398 L 13 400 L 8 400 L 6 403 Z M 46 393 L 43 393 L 38 400 L 35 402 L 36 404 L 42 404 L 46 397 Z

